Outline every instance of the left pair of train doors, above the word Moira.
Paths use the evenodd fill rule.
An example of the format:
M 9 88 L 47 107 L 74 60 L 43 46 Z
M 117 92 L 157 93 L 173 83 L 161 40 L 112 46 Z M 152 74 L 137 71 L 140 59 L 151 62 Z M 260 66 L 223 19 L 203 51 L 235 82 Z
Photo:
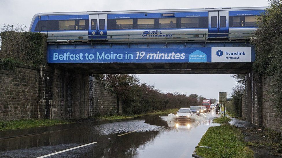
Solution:
M 107 35 L 107 14 L 101 15 L 89 15 L 89 29 L 88 35 L 90 39 L 106 39 L 107 36 L 98 36 L 98 35 Z

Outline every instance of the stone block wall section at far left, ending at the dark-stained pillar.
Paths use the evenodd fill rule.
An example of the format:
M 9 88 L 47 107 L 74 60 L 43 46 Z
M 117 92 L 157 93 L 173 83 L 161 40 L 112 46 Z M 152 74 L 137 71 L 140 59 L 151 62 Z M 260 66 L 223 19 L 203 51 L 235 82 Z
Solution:
M 37 116 L 38 71 L 25 66 L 0 70 L 0 120 Z

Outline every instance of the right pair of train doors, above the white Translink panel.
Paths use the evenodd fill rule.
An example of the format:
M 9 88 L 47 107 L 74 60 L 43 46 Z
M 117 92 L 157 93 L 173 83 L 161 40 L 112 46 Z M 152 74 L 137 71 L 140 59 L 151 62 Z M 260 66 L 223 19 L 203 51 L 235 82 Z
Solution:
M 229 33 L 229 12 L 209 12 L 209 33 Z M 228 34 L 212 34 L 209 37 L 228 37 Z

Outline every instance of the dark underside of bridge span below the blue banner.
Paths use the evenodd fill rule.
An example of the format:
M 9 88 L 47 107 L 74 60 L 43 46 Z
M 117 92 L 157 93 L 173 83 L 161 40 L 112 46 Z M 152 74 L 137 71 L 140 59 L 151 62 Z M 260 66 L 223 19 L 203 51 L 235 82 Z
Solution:
M 55 64 L 89 74 L 244 74 L 252 62 Z

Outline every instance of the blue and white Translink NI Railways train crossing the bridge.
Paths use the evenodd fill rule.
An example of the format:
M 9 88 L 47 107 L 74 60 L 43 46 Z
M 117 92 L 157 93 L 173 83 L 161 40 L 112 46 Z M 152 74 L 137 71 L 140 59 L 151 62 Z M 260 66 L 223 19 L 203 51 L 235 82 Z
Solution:
M 48 40 L 148 41 L 242 39 L 256 30 L 266 7 L 91 11 L 36 14 L 29 31 Z

